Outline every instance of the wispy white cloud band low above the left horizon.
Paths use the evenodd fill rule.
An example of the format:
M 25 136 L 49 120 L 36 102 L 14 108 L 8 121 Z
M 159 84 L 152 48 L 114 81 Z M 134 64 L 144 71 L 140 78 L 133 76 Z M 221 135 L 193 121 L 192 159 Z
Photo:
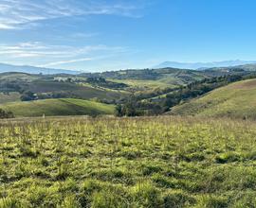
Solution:
M 38 66 L 58 66 L 67 63 L 94 61 L 127 52 L 128 48 L 107 45 L 52 45 L 40 42 L 0 44 L 0 61 Z

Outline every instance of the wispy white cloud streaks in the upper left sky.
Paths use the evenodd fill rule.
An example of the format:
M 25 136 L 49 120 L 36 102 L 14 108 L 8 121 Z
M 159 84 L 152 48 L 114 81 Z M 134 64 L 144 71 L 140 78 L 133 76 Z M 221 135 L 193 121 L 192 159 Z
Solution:
M 135 5 L 92 0 L 1 0 L 0 29 L 23 28 L 48 19 L 115 14 L 139 17 Z

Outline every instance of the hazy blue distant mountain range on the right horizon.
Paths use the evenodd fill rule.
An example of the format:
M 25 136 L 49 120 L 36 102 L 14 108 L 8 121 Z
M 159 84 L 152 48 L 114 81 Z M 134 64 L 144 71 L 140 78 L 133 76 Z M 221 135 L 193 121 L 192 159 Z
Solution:
M 214 61 L 214 62 L 175 62 L 175 61 L 165 61 L 156 65 L 154 68 L 166 68 L 174 67 L 180 69 L 206 69 L 214 67 L 230 67 L 256 63 L 256 61 Z

